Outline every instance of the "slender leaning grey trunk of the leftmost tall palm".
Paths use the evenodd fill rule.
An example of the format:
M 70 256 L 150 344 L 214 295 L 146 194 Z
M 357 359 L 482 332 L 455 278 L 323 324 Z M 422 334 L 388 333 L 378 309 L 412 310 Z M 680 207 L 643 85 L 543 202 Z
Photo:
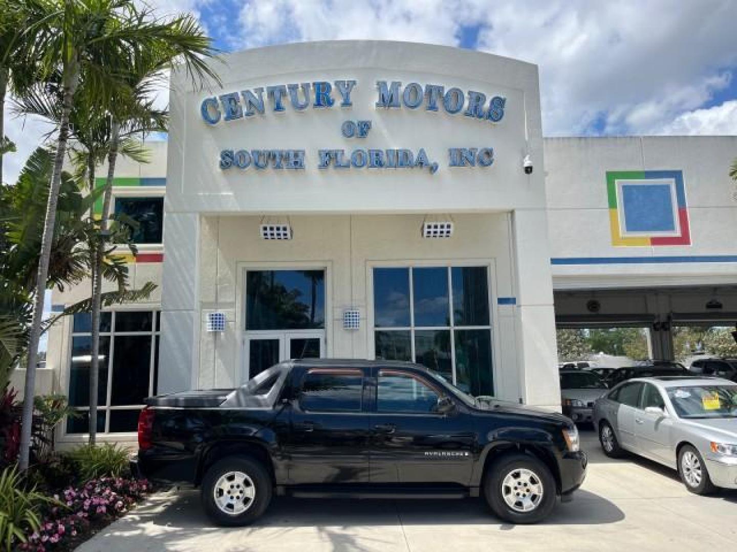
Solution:
M 64 96 L 61 118 L 59 121 L 59 137 L 54 156 L 54 171 L 49 185 L 49 199 L 46 202 L 46 218 L 43 222 L 41 236 L 41 255 L 38 259 L 36 273 L 36 294 L 33 305 L 33 320 L 28 344 L 28 364 L 26 367 L 26 385 L 24 388 L 23 413 L 21 416 L 21 446 L 18 451 L 18 468 L 21 472 L 28 469 L 31 446 L 31 425 L 33 422 L 33 397 L 36 384 L 36 359 L 38 358 L 38 342 L 41 339 L 41 320 L 43 319 L 43 300 L 46 295 L 46 281 L 49 279 L 49 258 L 54 240 L 56 225 L 56 204 L 59 199 L 61 185 L 61 169 L 66 155 L 66 142 L 69 140 L 69 113 L 74 101 L 74 93 L 79 83 L 80 68 L 72 63 L 64 70 Z

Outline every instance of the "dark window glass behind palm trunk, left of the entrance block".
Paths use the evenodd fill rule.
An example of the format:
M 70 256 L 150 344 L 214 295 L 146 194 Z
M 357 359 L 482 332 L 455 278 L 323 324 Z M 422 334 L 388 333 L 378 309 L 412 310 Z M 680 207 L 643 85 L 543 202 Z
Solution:
M 77 417 L 67 434 L 85 434 L 89 425 L 91 316 L 75 314 L 69 364 L 69 406 Z M 97 431 L 136 431 L 143 400 L 156 394 L 159 311 L 105 311 L 100 319 Z

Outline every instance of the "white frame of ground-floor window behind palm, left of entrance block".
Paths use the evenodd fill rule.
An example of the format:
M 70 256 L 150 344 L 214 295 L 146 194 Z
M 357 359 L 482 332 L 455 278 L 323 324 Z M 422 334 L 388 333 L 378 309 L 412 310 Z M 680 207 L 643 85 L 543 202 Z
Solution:
M 151 323 L 151 330 L 150 331 L 125 331 L 125 332 L 117 332 L 115 331 L 115 319 L 116 319 L 116 313 L 119 312 L 153 312 L 153 320 Z M 156 329 L 156 322 L 157 320 L 161 320 L 161 307 L 158 305 L 146 305 L 146 304 L 138 304 L 138 305 L 130 305 L 128 308 L 114 308 L 114 309 L 103 309 L 103 312 L 109 312 L 111 313 L 111 330 L 109 332 L 100 332 L 99 336 L 102 337 L 109 337 L 110 338 L 110 352 L 108 354 L 108 385 L 107 389 L 105 391 L 105 404 L 97 405 L 97 411 L 113 411 L 113 410 L 140 410 L 141 408 L 144 408 L 144 404 L 138 404 L 138 405 L 118 405 L 118 406 L 111 406 L 111 397 L 112 397 L 112 389 L 113 389 L 113 357 L 115 355 L 115 336 L 150 336 L 151 337 L 151 350 L 150 350 L 150 358 L 149 358 L 149 382 L 148 382 L 148 393 L 149 395 L 153 394 L 153 389 L 156 385 L 156 382 L 154 381 L 154 364 L 156 361 L 156 338 L 158 337 L 161 339 L 161 324 L 159 324 L 159 329 Z M 64 394 L 69 394 L 69 384 L 71 383 L 71 354 L 72 354 L 72 343 L 73 339 L 75 337 L 87 337 L 91 336 L 91 332 L 75 332 L 74 331 L 74 319 L 72 316 L 69 316 L 69 348 L 66 355 L 66 368 L 64 370 L 65 377 L 63 378 L 63 392 Z M 76 411 L 88 411 L 88 406 L 79 406 L 79 407 L 71 407 Z M 68 441 L 68 442 L 86 442 L 88 440 L 89 434 L 88 433 L 69 433 L 66 428 L 66 418 L 63 420 L 63 422 L 60 424 L 61 426 L 61 435 L 60 440 L 61 441 Z M 116 432 L 111 433 L 109 431 L 110 429 L 110 415 L 105 416 L 105 428 L 104 431 L 99 431 L 98 435 L 105 436 L 105 440 L 120 440 L 120 441 L 130 441 L 133 440 L 132 438 L 135 438 L 137 435 L 137 431 L 125 431 L 125 432 Z

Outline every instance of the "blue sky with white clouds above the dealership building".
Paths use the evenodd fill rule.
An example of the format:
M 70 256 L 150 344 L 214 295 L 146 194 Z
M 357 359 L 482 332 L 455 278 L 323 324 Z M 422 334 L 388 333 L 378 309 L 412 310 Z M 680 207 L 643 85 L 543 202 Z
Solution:
M 539 67 L 545 136 L 737 134 L 737 0 L 149 0 L 225 52 L 407 40 Z M 161 102 L 167 92 L 161 91 Z M 9 105 L 6 110 L 9 109 Z M 6 118 L 13 182 L 48 127 Z

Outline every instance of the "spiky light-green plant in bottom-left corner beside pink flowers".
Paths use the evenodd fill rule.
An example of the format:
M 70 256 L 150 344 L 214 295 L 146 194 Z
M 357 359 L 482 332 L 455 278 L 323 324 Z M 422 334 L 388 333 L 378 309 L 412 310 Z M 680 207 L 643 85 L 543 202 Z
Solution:
M 15 542 L 26 542 L 26 535 L 39 530 L 43 503 L 56 500 L 36 492 L 35 487 L 25 490 L 15 466 L 0 473 L 0 548 L 13 550 Z

